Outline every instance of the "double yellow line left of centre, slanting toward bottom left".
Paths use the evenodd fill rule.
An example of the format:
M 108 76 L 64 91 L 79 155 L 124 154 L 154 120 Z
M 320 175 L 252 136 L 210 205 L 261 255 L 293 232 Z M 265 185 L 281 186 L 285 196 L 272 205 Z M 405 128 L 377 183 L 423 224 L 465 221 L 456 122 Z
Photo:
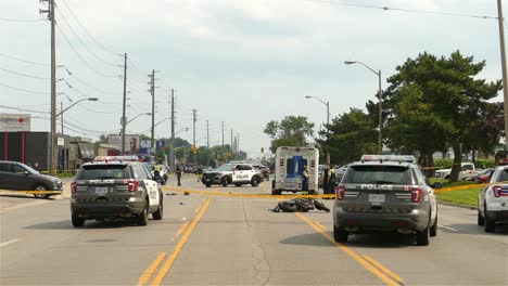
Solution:
M 150 281 L 150 278 L 155 274 L 153 281 L 151 282 L 151 286 L 157 286 L 161 285 L 162 281 L 166 276 L 167 272 L 172 268 L 173 263 L 175 262 L 176 258 L 180 253 L 181 249 L 183 248 L 185 244 L 187 243 L 187 239 L 189 239 L 189 236 L 191 235 L 192 231 L 194 230 L 195 225 L 200 221 L 201 217 L 205 213 L 206 209 L 208 208 L 209 200 L 212 197 L 207 197 L 201 206 L 196 209 L 198 214 L 195 218 L 192 220 L 192 222 L 186 222 L 183 223 L 178 232 L 175 234 L 175 239 L 180 236 L 180 239 L 178 243 L 175 245 L 175 248 L 173 249 L 172 253 L 167 257 L 166 261 L 164 261 L 164 264 L 158 269 L 161 263 L 163 262 L 164 258 L 166 257 L 166 252 L 160 252 L 155 260 L 150 263 L 150 265 L 144 270 L 144 272 L 141 274 L 141 276 L 138 280 L 138 286 L 144 285 Z M 158 269 L 158 272 L 157 272 Z

